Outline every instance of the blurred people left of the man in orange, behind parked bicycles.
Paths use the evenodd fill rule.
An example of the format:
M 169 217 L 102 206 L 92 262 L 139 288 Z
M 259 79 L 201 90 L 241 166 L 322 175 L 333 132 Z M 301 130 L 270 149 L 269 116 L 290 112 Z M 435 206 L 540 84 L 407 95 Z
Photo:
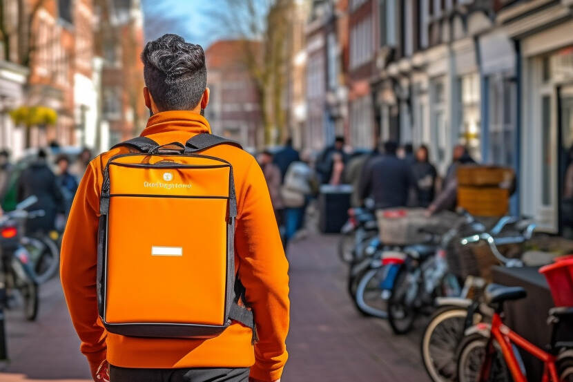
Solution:
M 55 143 L 17 161 L 11 160 L 8 150 L 0 151 L 0 214 L 34 195 L 38 201 L 30 209 L 43 211 L 43 216 L 28 220 L 26 230 L 63 231 L 79 180 L 91 159 L 88 148 L 63 149 Z

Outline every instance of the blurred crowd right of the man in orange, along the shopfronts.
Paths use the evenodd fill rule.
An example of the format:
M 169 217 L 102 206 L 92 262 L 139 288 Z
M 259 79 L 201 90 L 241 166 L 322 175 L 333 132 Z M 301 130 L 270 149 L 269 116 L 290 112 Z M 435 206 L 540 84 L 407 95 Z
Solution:
M 290 140 L 258 155 L 275 216 L 288 242 L 302 227 L 304 210 L 322 186 L 351 185 L 351 207 L 387 209 L 421 207 L 427 215 L 456 208 L 459 165 L 476 164 L 463 145 L 454 147 L 451 164 L 440 176 L 425 145 L 384 142 L 371 151 L 351 151 L 344 137 L 312 155 L 299 153 Z

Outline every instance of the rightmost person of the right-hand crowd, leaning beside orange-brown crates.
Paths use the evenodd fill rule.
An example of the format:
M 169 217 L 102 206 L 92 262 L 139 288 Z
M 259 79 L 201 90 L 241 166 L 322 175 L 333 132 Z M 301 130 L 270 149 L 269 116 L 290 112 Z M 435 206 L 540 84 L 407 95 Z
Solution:
M 452 153 L 452 162 L 447 169 L 442 185 L 442 190 L 428 207 L 428 215 L 433 215 L 440 211 L 454 211 L 458 202 L 458 167 L 462 165 L 476 164 L 474 158 L 469 155 L 466 147 L 456 144 Z

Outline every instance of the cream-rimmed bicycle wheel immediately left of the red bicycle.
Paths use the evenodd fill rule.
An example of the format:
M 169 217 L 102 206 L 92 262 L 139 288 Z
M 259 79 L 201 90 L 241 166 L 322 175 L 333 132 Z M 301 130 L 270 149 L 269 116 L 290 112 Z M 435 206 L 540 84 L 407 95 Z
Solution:
M 431 316 L 420 343 L 426 371 L 434 382 L 456 381 L 456 350 L 465 330 L 467 309 L 441 307 Z

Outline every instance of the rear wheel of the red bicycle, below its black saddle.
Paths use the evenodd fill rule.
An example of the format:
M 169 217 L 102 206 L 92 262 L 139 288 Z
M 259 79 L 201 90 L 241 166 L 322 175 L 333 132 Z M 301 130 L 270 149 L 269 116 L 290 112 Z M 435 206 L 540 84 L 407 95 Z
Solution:
M 480 334 L 467 336 L 460 345 L 458 352 L 458 381 L 478 382 L 481 367 L 485 361 L 485 352 L 488 339 Z M 487 382 L 512 382 L 503 354 L 496 346 L 496 352 L 492 359 L 491 370 Z

